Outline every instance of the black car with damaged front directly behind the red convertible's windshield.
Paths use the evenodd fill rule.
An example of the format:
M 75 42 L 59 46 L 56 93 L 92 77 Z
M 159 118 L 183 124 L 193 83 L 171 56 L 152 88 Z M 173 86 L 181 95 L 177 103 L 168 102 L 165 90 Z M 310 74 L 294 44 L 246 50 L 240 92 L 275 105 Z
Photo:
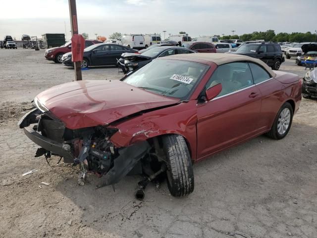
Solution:
M 192 53 L 197 52 L 190 49 L 173 46 L 155 47 L 142 54 L 122 54 L 121 58 L 118 60 L 118 66 L 122 68 L 123 73 L 127 73 L 129 71 L 134 71 L 143 67 L 156 58 Z

